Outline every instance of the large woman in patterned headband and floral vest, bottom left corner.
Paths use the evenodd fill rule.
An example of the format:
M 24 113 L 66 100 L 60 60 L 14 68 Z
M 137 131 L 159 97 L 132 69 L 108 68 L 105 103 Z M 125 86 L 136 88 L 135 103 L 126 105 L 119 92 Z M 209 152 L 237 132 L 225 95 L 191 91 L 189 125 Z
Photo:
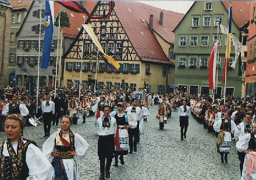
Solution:
M 54 177 L 54 168 L 37 148 L 36 144 L 20 136 L 26 122 L 18 114 L 6 117 L 5 134 L 7 140 L 0 143 L 0 179 L 49 180 Z M 35 144 L 35 145 L 34 145 Z

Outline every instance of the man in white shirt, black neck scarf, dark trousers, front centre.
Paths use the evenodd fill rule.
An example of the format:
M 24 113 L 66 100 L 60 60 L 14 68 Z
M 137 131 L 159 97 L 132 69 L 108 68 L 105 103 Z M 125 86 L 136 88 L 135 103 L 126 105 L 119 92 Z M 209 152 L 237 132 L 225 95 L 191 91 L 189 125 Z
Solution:
M 98 127 L 98 156 L 101 175 L 99 179 L 110 177 L 110 167 L 115 150 L 116 119 L 109 115 L 110 106 L 102 106 L 103 115 L 97 119 Z

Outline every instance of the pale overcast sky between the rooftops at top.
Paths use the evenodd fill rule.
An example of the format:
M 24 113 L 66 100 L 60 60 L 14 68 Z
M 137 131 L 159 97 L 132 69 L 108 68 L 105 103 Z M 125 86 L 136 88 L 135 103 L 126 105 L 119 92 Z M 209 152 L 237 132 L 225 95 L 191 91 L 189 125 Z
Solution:
M 194 1 L 138 1 L 157 8 L 171 10 L 177 13 L 186 13 Z

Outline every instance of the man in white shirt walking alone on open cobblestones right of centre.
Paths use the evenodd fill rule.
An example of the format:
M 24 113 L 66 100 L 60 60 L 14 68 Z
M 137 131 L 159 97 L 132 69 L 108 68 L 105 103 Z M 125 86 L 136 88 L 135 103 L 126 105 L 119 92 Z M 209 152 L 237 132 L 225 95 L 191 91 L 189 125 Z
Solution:
M 190 106 L 183 100 L 183 105 L 178 109 L 178 116 L 180 117 L 180 139 L 183 141 L 183 136 L 186 139 L 187 127 L 189 126 Z M 183 131 L 184 130 L 184 131 Z

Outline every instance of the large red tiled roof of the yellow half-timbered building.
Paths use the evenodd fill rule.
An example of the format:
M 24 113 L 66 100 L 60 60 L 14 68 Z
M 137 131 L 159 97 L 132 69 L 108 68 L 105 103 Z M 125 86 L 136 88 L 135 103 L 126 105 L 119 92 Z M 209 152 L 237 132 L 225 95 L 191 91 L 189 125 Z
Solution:
M 114 10 L 136 52 L 143 61 L 170 63 L 157 38 L 148 28 L 150 14 L 154 16 L 154 31 L 169 43 L 174 42 L 172 30 L 182 20 L 184 14 L 170 12 L 135 1 L 116 1 Z M 159 23 L 161 11 L 163 12 L 163 27 Z

